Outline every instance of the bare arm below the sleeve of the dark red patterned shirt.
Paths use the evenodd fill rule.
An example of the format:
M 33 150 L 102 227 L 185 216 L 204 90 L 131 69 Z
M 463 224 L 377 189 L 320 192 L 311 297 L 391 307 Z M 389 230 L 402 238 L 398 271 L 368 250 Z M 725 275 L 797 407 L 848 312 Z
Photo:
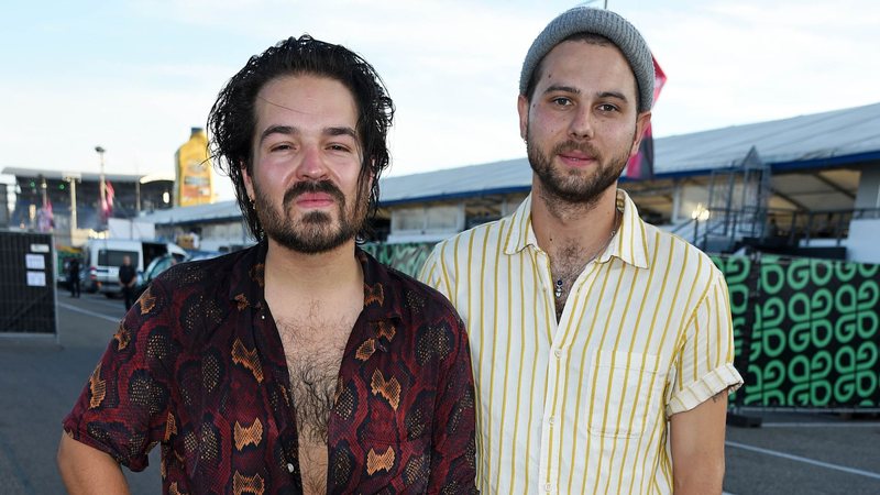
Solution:
M 74 440 L 66 432 L 58 446 L 57 462 L 70 495 L 129 493 L 125 476 L 113 458 Z

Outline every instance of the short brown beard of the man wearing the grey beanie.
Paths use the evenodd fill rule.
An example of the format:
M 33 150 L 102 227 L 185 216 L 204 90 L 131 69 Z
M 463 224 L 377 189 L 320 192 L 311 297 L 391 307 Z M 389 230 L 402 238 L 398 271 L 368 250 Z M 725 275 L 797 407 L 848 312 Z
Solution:
M 598 197 L 620 178 L 627 161 L 629 160 L 630 146 L 605 157 L 590 143 L 578 143 L 569 140 L 559 143 L 549 154 L 535 144 L 527 130 L 526 152 L 531 169 L 538 176 L 542 186 L 542 197 L 556 204 L 583 205 L 592 207 L 598 201 Z M 632 133 L 635 140 L 635 131 Z M 580 151 L 588 154 L 596 160 L 596 170 L 563 169 L 553 166 L 553 157 L 560 153 Z

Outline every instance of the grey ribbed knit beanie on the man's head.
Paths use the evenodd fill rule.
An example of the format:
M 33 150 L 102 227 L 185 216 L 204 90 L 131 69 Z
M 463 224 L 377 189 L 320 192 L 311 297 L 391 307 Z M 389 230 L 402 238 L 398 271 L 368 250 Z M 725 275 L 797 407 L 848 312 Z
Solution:
M 522 73 L 519 75 L 519 92 L 526 94 L 531 73 L 541 59 L 562 40 L 574 33 L 593 33 L 607 37 L 617 45 L 626 59 L 639 91 L 639 112 L 653 105 L 653 59 L 645 38 L 626 19 L 609 10 L 575 7 L 550 21 L 526 54 Z

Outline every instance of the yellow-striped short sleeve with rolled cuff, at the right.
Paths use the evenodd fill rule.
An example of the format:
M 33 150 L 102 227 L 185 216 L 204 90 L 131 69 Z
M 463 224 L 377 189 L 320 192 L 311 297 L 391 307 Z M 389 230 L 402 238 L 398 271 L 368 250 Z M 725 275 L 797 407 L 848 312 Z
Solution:
M 690 316 L 667 384 L 667 415 L 691 410 L 716 394 L 735 391 L 734 326 L 722 273 L 712 266 L 704 296 Z

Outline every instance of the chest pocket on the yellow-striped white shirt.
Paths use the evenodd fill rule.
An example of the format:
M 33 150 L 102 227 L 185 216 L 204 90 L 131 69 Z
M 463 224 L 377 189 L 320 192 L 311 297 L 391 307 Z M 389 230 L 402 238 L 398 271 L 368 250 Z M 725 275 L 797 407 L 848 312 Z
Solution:
M 590 433 L 638 438 L 660 420 L 666 372 L 658 358 L 637 352 L 598 351 L 590 363 Z

